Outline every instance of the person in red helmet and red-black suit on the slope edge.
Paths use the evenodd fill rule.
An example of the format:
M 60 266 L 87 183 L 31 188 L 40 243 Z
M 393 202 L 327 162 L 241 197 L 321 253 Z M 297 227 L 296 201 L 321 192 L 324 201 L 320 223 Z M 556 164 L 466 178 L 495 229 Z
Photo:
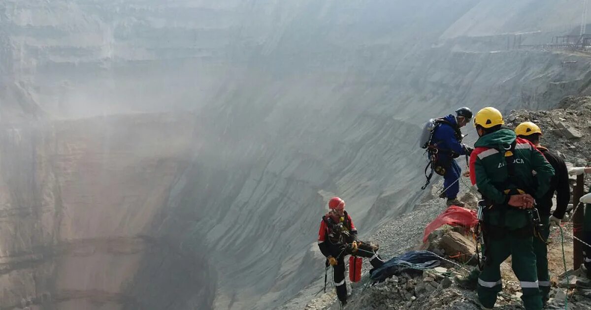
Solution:
M 345 256 L 368 257 L 374 268 L 382 266 L 384 261 L 378 256 L 377 246 L 357 240 L 357 229 L 351 216 L 345 211 L 345 201 L 333 197 L 329 201 L 329 213 L 322 217 L 318 233 L 318 247 L 326 256 L 327 263 L 333 266 L 333 279 L 337 296 L 341 304 L 347 303 L 345 285 Z

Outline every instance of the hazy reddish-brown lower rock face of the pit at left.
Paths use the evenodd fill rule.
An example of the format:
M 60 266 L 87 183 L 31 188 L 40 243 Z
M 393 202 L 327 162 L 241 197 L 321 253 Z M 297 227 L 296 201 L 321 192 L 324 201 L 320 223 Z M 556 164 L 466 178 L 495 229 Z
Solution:
M 187 264 L 210 270 L 207 262 L 153 227 L 189 165 L 193 121 L 152 114 L 2 127 L 0 308 L 142 305 L 127 290 L 150 256 L 170 257 L 160 263 L 167 274 L 199 287 Z M 215 276 L 199 278 L 215 286 Z

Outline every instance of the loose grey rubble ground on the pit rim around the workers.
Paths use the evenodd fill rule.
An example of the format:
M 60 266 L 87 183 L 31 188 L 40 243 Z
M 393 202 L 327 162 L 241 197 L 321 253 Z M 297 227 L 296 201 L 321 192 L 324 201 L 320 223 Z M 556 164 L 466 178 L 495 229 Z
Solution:
M 544 146 L 563 156 L 569 167 L 587 165 L 591 161 L 591 148 L 589 148 L 591 146 L 591 97 L 567 97 L 558 107 L 559 109 L 555 110 L 535 112 L 514 110 L 506 117 L 506 122 L 511 127 L 526 120 L 537 123 L 544 134 L 542 142 Z M 468 185 L 467 178 L 462 178 L 460 194 L 467 202 L 467 207 L 473 207 L 476 205 L 476 193 Z M 441 181 L 434 183 L 431 191 L 415 207 L 415 211 L 384 225 L 369 238 L 372 242 L 381 244 L 382 256 L 390 258 L 407 250 L 419 248 L 433 250 L 445 257 L 453 254 L 446 253 L 446 246 L 441 243 L 441 236 L 444 234 L 459 235 L 451 227 L 443 227 L 433 233 L 427 244 L 421 242 L 426 224 L 445 208 L 443 200 L 436 198 L 437 190 L 440 188 Z M 563 229 L 571 233 L 572 223 L 565 221 Z M 471 236 L 464 237 L 463 240 L 467 248 L 475 244 Z M 566 233 L 562 239 L 560 229 L 554 227 L 551 229 L 548 241 L 550 242 L 548 260 L 553 288 L 546 308 L 590 309 L 589 279 L 584 276 L 584 270 L 573 270 L 572 266 L 573 239 Z M 476 293 L 460 288 L 453 280 L 454 276 L 466 275 L 467 270 L 473 268 L 464 262 L 444 262 L 441 267 L 425 271 L 420 276 L 403 274 L 376 284 L 369 283 L 368 266 L 369 264 L 365 262 L 365 274 L 361 282 L 353 283 L 352 289 L 349 290 L 352 292 L 350 302 L 344 309 L 479 309 Z M 521 296 L 519 282 L 511 270 L 510 258 L 502 266 L 502 275 L 504 288 L 495 308 L 522 309 L 521 299 L 519 299 Z M 313 299 L 306 305 L 306 309 L 340 308 L 333 293 L 330 275 L 328 282 L 328 293 Z

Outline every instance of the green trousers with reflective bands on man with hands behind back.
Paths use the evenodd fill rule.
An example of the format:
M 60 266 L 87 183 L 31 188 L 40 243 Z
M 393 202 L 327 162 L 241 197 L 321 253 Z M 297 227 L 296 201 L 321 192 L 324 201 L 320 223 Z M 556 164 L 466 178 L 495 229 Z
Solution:
M 504 237 L 488 238 L 486 263 L 478 278 L 478 299 L 486 308 L 493 308 L 496 295 L 502 290 L 501 263 L 511 256 L 511 267 L 521 283 L 523 305 L 527 310 L 542 309 L 538 286 L 533 237 L 516 237 L 510 233 Z

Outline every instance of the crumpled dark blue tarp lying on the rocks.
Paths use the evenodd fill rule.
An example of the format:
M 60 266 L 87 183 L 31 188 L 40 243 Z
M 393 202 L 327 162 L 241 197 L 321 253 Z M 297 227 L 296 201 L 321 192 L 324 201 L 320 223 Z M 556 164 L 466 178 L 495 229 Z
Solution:
M 391 276 L 400 275 L 404 271 L 420 272 L 417 269 L 434 268 L 439 265 L 441 265 L 439 257 L 432 252 L 410 251 L 388 260 L 384 265 L 373 270 L 371 272 L 371 279 L 382 282 Z

